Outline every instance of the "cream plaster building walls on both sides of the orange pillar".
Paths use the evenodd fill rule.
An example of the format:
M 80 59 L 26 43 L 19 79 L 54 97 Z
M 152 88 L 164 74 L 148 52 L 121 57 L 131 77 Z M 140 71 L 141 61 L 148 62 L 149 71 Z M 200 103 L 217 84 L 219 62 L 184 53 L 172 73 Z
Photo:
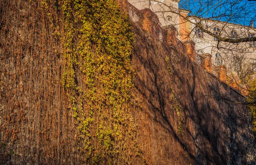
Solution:
M 160 24 L 164 26 L 174 25 L 177 31 L 180 31 L 179 20 L 179 8 L 178 3 L 180 0 L 128 0 L 134 7 L 139 10 L 144 8 L 150 8 L 157 14 Z M 171 19 L 169 19 L 171 18 Z M 190 17 L 192 22 L 197 21 L 198 18 Z M 256 34 L 256 28 L 251 28 L 242 25 L 236 25 L 227 22 L 219 22 L 215 20 L 205 20 L 202 22 L 204 28 L 213 32 L 214 27 L 218 27 L 221 30 L 221 36 L 230 37 L 230 32 L 235 30 L 239 37 L 247 37 L 248 33 Z M 195 25 L 189 23 L 190 38 L 195 42 L 195 50 L 202 50 L 204 53 L 212 55 L 212 64 L 215 65 L 215 54 L 221 54 L 223 58 L 223 64 L 228 67 L 232 62 L 233 56 L 244 56 L 249 59 L 256 59 L 255 48 L 250 48 L 248 43 L 219 43 L 214 41 L 214 37 L 208 34 L 203 34 L 204 38 L 198 38 L 195 34 Z M 256 35 L 255 35 L 256 36 Z M 179 39 L 179 35 L 177 36 Z M 218 44 L 218 45 L 217 45 Z M 219 49 L 218 49 L 219 48 Z

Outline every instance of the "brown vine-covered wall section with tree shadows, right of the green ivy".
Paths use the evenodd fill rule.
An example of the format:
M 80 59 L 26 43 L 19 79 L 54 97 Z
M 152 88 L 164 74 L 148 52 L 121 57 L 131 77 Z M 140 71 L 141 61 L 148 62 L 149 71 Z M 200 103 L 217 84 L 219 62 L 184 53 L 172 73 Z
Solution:
M 131 58 L 142 108 L 135 116 L 149 164 L 255 164 L 247 106 L 210 97 L 241 101 L 243 96 L 192 62 L 186 47 L 171 36 L 175 32 L 160 28 L 150 10 L 137 12 Z

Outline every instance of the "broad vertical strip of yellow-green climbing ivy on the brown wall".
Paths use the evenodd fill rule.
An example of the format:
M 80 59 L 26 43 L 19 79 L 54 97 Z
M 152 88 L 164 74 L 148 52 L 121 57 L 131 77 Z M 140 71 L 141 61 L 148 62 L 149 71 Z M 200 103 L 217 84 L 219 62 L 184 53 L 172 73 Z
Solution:
M 114 0 L 64 0 L 62 85 L 76 118 L 86 162 L 141 159 L 131 116 L 134 34 Z M 134 158 L 135 159 L 135 158 Z

